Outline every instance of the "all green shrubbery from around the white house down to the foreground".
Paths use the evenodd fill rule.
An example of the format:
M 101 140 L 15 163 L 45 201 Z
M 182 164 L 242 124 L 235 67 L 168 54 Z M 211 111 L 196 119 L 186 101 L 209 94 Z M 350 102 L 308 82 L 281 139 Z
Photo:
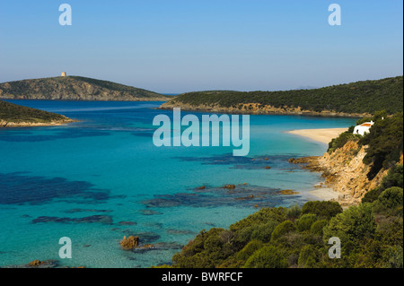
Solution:
M 374 112 L 364 136 L 350 132 L 329 143 L 329 152 L 350 146 L 365 150 L 367 177 L 385 169 L 382 182 L 362 202 L 345 209 L 337 201 L 313 201 L 290 208 L 262 208 L 229 229 L 202 230 L 172 268 L 402 268 L 403 114 Z M 354 143 L 352 143 L 354 142 Z M 359 145 L 358 145 L 359 143 Z M 354 150 L 352 152 L 358 152 Z M 358 165 L 364 166 L 364 165 Z M 360 170 L 363 171 L 364 169 Z M 329 257 L 329 238 L 341 241 L 341 257 Z

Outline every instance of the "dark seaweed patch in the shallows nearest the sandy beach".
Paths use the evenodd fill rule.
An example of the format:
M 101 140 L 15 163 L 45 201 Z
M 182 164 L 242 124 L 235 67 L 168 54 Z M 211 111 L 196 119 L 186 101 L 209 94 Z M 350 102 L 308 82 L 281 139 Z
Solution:
M 203 165 L 229 165 L 231 169 L 294 169 L 288 160 L 296 154 L 256 156 L 253 158 L 233 156 L 232 153 L 211 157 L 174 157 L 177 160 L 202 161 Z

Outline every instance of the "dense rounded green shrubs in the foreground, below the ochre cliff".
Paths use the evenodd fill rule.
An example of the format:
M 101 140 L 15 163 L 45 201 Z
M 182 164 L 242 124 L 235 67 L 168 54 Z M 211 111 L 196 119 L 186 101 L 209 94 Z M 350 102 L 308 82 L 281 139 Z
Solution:
M 337 202 L 263 208 L 228 230 L 202 230 L 173 268 L 331 268 L 403 266 L 403 191 L 391 187 L 373 203 L 343 211 Z M 329 258 L 329 238 L 341 258 Z

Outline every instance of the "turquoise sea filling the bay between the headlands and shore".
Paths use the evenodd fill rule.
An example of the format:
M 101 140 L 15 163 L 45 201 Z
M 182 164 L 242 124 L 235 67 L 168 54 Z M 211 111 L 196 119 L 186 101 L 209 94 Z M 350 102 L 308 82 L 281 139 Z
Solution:
M 80 121 L 0 129 L 0 266 L 170 263 L 200 230 L 227 228 L 260 207 L 314 199 L 307 192 L 320 174 L 287 160 L 320 155 L 327 145 L 285 131 L 356 121 L 250 116 L 250 154 L 233 157 L 233 147 L 155 147 L 154 116 L 172 117 L 155 109 L 162 102 L 9 101 Z M 283 189 L 300 194 L 279 195 Z M 130 235 L 156 247 L 122 250 L 119 241 Z M 58 256 L 62 237 L 72 240 L 71 259 Z

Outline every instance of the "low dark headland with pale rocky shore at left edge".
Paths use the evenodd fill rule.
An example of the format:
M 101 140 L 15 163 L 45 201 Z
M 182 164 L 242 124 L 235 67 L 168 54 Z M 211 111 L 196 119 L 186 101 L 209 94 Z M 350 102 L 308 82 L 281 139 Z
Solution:
M 11 126 L 54 126 L 73 121 L 63 115 L 22 107 L 0 100 L 0 128 Z

